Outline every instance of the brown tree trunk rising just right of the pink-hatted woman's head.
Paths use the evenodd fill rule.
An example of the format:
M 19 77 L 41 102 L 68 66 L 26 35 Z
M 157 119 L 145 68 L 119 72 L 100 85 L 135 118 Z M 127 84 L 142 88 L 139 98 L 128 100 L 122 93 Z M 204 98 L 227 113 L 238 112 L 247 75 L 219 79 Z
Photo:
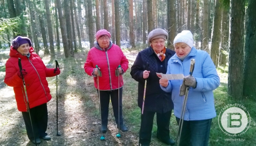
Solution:
M 119 0 L 114 0 L 114 16 L 115 16 L 115 28 L 116 28 L 116 45 L 120 47 L 121 36 L 120 36 Z

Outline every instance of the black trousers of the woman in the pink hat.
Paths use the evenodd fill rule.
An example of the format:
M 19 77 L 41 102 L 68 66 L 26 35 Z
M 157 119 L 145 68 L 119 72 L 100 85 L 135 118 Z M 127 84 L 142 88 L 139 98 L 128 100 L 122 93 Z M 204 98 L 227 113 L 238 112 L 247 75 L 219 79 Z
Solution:
M 98 89 L 97 89 L 98 92 Z M 108 106 L 111 98 L 111 103 L 114 112 L 114 118 L 117 124 L 123 124 L 123 104 L 122 104 L 123 87 L 119 89 L 119 99 L 118 99 L 118 89 L 112 91 L 102 91 L 100 90 L 100 109 L 101 109 L 101 121 L 102 125 L 108 125 Z M 119 101 L 119 114 L 118 114 L 118 101 Z M 120 119 L 119 119 L 120 116 Z M 120 121 L 119 121 L 120 120 Z

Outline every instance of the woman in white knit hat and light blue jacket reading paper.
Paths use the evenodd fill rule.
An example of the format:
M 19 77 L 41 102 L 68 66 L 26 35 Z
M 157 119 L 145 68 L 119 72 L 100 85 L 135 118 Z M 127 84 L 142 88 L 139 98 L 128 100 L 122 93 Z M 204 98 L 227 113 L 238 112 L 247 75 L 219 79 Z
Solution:
M 213 90 L 219 87 L 220 78 L 210 55 L 193 47 L 193 35 L 189 30 L 177 34 L 173 43 L 176 54 L 168 61 L 167 74 L 184 74 L 183 80 L 160 79 L 162 90 L 172 92 L 174 115 L 179 124 L 185 88 L 189 86 L 180 146 L 208 146 L 212 118 L 216 117 Z M 189 76 L 190 61 L 195 68 Z M 185 84 L 185 85 L 184 85 Z

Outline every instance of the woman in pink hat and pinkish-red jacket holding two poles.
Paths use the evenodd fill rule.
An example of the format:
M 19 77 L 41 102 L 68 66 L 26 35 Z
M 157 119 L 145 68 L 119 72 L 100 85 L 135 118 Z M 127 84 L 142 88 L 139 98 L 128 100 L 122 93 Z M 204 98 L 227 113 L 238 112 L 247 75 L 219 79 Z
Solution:
M 97 91 L 100 90 L 99 93 L 102 133 L 106 133 L 107 131 L 108 105 L 110 97 L 117 128 L 123 132 L 127 131 L 127 127 L 123 124 L 122 115 L 122 74 L 127 71 L 128 63 L 129 61 L 123 54 L 123 51 L 120 49 L 120 47 L 110 41 L 110 32 L 105 29 L 99 30 L 96 33 L 96 42 L 94 43 L 94 47 L 92 47 L 88 52 L 87 59 L 84 64 L 84 69 L 88 75 L 94 77 L 94 86 Z M 98 78 L 98 68 L 96 65 L 98 65 L 98 68 L 102 72 L 102 76 Z M 119 76 L 116 76 L 116 70 L 119 71 Z M 99 79 L 99 81 L 97 81 L 97 79 Z

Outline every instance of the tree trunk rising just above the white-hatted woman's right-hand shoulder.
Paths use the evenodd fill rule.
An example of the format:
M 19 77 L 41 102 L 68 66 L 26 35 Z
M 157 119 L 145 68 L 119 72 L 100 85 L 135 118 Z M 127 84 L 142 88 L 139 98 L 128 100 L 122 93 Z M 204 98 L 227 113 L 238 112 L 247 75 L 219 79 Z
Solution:
M 208 21 L 209 0 L 204 0 L 203 13 L 203 50 L 209 53 L 209 21 Z

